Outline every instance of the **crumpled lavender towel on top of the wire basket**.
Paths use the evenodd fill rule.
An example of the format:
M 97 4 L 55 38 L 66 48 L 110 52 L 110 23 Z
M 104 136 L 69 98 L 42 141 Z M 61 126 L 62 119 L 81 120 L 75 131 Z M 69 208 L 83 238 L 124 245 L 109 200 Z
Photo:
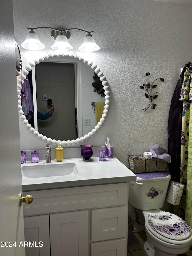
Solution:
M 167 149 L 164 149 L 162 146 L 155 144 L 151 147 L 150 152 L 153 153 L 151 156 L 151 159 L 157 160 L 157 161 L 165 161 L 167 163 L 171 162 L 171 157 L 169 154 L 164 153 L 167 151 Z

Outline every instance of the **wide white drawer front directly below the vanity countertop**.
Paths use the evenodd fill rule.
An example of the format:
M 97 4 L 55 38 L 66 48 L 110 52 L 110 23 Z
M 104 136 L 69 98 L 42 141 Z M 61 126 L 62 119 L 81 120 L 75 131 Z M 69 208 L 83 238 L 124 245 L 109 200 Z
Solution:
M 23 205 L 24 216 L 64 212 L 128 203 L 127 182 L 74 188 L 28 191 L 34 198 Z

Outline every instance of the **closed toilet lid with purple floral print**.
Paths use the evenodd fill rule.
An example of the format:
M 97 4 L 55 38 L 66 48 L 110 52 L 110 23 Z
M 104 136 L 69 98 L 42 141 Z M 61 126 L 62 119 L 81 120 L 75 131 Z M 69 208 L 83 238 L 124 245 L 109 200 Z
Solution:
M 156 232 L 170 239 L 183 240 L 191 236 L 187 222 L 170 212 L 149 213 L 148 222 Z

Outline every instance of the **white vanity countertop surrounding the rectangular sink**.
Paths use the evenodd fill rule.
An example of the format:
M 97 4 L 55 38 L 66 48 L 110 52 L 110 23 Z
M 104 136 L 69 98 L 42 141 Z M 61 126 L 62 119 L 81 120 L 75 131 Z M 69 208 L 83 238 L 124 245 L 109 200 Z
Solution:
M 50 164 L 45 164 L 44 160 L 39 161 L 39 163 L 27 161 L 25 164 L 22 164 L 22 166 L 63 163 L 75 163 L 78 174 L 40 178 L 25 178 L 22 174 L 23 191 L 128 182 L 136 180 L 136 175 L 115 157 L 112 159 L 106 159 L 104 162 L 99 161 L 98 157 L 91 157 L 91 161 L 89 162 L 83 161 L 82 158 L 68 158 L 63 159 L 61 162 L 52 160 Z

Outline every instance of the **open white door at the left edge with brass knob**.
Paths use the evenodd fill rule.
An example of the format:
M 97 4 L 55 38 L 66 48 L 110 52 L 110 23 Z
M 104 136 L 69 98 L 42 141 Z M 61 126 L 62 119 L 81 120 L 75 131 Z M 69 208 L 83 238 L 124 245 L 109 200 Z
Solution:
M 24 227 L 12 0 L 1 2 L 0 24 L 0 255 L 24 256 L 25 248 L 19 247 Z

